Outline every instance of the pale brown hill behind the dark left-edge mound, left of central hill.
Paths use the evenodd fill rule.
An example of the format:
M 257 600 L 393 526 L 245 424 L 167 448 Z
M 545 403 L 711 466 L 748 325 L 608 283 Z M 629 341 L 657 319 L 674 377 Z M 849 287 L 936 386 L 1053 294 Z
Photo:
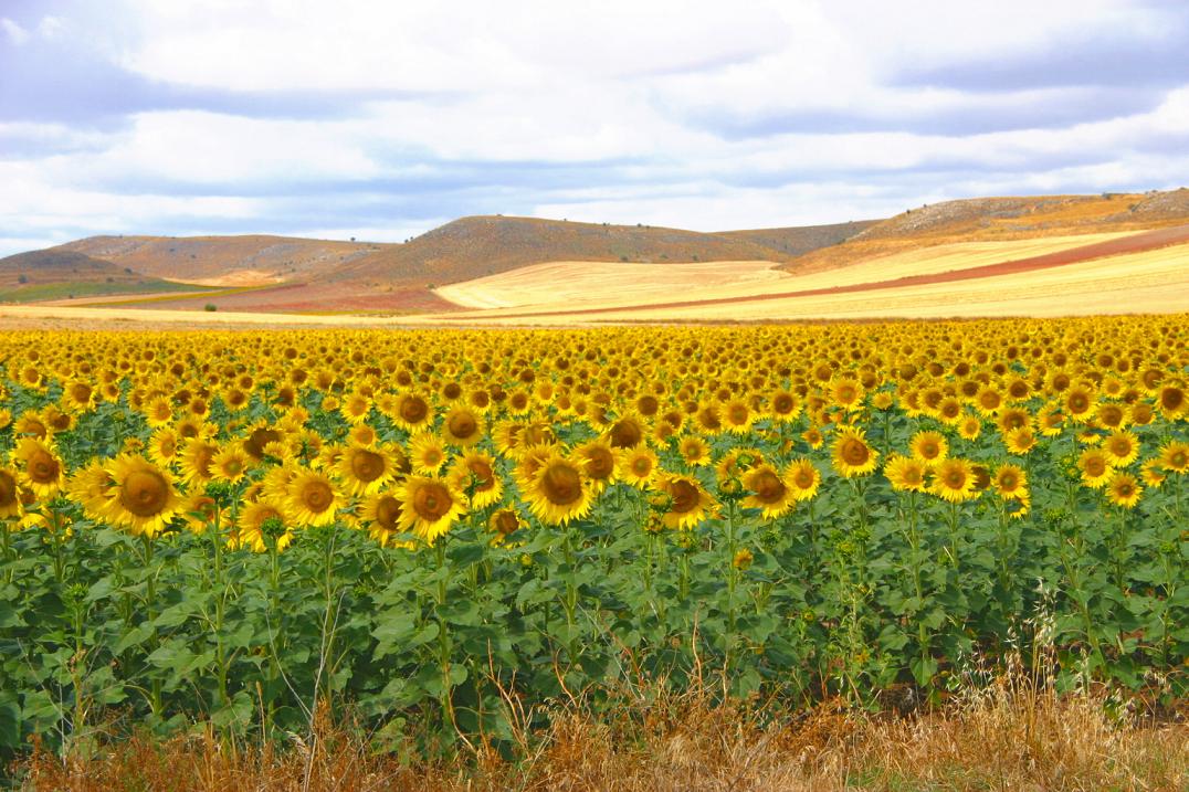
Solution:
M 249 234 L 241 237 L 88 237 L 61 245 L 159 278 L 254 285 L 326 272 L 385 247 L 370 243 Z

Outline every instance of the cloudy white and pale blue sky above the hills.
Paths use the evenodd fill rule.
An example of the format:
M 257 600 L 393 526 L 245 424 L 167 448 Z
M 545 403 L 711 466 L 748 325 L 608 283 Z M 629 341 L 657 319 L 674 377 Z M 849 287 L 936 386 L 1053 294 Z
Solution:
M 0 256 L 1189 184 L 1183 0 L 0 0 Z

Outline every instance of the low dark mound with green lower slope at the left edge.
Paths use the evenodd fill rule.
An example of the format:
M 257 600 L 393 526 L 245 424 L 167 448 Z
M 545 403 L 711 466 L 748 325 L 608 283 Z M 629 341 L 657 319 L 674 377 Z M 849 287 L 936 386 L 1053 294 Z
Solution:
M 185 289 L 90 256 L 51 247 L 0 258 L 0 302 Z

